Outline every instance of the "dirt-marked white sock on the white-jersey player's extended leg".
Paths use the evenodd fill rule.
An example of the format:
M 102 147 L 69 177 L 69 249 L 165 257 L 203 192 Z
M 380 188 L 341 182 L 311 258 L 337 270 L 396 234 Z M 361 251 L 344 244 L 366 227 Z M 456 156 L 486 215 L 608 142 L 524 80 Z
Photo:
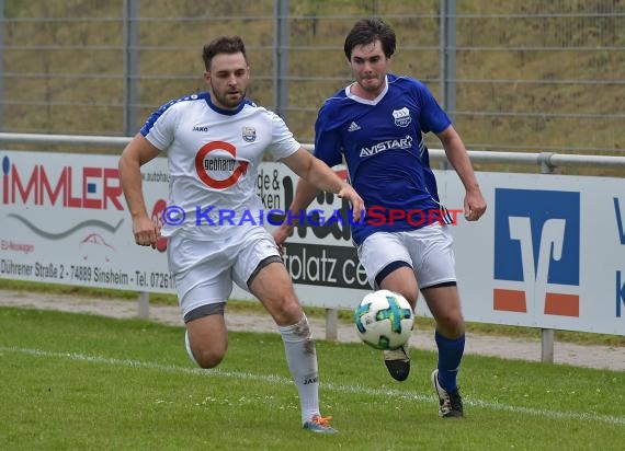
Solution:
M 317 368 L 317 350 L 310 337 L 310 326 L 306 315 L 292 326 L 279 326 L 282 334 L 286 362 L 297 385 L 302 424 L 319 415 L 319 370 Z

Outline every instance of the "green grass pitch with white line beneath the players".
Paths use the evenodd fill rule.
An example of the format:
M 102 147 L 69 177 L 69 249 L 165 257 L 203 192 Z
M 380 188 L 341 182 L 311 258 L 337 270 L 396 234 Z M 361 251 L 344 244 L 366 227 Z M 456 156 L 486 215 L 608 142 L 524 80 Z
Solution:
M 466 356 L 466 418 L 444 420 L 412 350 L 408 381 L 378 351 L 318 342 L 337 436 L 300 429 L 277 334 L 231 333 L 217 370 L 186 357 L 183 328 L 0 309 L 3 450 L 622 450 L 622 372 Z

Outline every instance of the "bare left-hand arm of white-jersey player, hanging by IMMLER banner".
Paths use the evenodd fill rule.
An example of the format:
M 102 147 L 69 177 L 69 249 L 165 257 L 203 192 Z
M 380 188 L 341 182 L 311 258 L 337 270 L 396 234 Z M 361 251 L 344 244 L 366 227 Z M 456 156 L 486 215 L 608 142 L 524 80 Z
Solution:
M 159 150 L 138 134 L 120 157 L 120 183 L 133 219 L 135 242 L 141 246 L 156 246 L 159 227 L 148 216 L 141 189 L 140 166 L 157 157 Z

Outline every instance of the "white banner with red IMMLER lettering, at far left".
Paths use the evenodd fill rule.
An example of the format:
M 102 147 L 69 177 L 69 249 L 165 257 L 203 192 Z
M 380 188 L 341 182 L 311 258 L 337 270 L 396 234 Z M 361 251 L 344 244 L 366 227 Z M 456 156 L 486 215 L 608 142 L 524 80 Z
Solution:
M 0 151 L 0 277 L 173 292 L 166 243 L 135 244 L 117 158 Z M 159 163 L 164 181 L 144 181 L 150 206 L 167 199 Z

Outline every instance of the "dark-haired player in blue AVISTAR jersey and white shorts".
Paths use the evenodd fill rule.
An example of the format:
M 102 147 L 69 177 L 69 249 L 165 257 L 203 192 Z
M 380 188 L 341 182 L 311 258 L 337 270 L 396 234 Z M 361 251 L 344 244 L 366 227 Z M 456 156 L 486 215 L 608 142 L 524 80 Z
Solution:
M 320 108 L 315 155 L 330 166 L 344 159 L 351 184 L 367 207 L 364 221 L 352 224 L 352 239 L 372 287 L 401 293 L 412 308 L 419 290 L 423 294 L 436 321 L 439 362 L 431 380 L 439 396 L 439 415 L 463 417 L 456 378 L 465 324 L 447 228 L 453 218 L 439 201 L 422 134 L 438 136 L 459 176 L 466 190 L 465 218 L 478 220 L 486 201 L 461 137 L 431 92 L 418 80 L 388 71 L 395 47 L 395 32 L 382 20 L 363 19 L 354 24 L 344 53 L 355 82 Z M 306 209 L 316 195 L 316 187 L 299 181 L 293 213 Z M 375 221 L 370 215 L 373 208 Z M 398 215 L 408 211 L 423 216 Z M 281 250 L 293 229 L 293 224 L 283 224 L 274 231 Z M 384 361 L 394 379 L 408 378 L 406 346 L 384 351 Z

